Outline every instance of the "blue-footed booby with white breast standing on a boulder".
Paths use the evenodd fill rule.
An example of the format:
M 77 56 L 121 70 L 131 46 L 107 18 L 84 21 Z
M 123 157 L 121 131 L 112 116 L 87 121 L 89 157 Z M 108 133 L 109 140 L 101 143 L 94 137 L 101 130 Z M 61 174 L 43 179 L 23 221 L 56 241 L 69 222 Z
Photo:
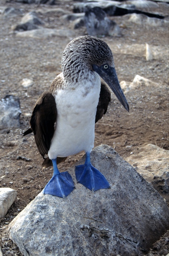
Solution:
M 93 192 L 110 188 L 90 161 L 95 123 L 106 113 L 111 99 L 107 85 L 128 112 L 129 105 L 117 78 L 112 51 L 103 40 L 89 35 L 73 39 L 63 51 L 61 67 L 49 91 L 35 103 L 30 128 L 23 135 L 33 132 L 44 158 L 42 165 L 53 165 L 53 176 L 43 194 L 65 198 L 75 186 L 71 175 L 60 172 L 57 165 L 81 151 L 86 157 L 83 165 L 75 167 L 77 182 Z

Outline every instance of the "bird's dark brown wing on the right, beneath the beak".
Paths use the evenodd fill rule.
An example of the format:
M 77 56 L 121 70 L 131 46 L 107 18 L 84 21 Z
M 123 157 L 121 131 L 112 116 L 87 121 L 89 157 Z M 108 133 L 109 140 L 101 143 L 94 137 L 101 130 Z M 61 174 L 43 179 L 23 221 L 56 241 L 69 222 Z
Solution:
M 101 82 L 99 103 L 97 105 L 95 123 L 97 123 L 97 121 L 99 121 L 99 119 L 101 119 L 102 116 L 106 114 L 110 100 L 111 100 L 111 93 L 107 88 L 107 86 L 103 82 Z

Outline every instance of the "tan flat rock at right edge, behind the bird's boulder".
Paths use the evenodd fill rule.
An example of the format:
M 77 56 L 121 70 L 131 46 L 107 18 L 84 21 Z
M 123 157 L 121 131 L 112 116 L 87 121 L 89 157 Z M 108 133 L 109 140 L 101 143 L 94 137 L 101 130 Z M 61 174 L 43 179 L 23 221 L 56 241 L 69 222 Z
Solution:
M 169 151 L 153 144 L 126 158 L 153 187 L 169 201 Z

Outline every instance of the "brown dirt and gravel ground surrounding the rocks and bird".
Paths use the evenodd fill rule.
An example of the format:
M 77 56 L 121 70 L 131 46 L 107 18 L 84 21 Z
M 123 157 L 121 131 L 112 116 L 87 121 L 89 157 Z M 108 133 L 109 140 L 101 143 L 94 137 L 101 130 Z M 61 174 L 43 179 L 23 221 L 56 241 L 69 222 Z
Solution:
M 72 10 L 71 3 L 59 2 L 56 7 Z M 27 5 L 1 1 L 1 6 L 22 9 L 26 14 L 32 10 L 49 8 L 47 5 Z M 52 7 L 50 7 L 52 8 Z M 151 10 L 157 12 L 157 10 Z M 161 8 L 158 13 L 168 15 L 168 10 Z M 45 22 L 43 27 L 68 28 L 69 22 L 63 22 L 57 16 L 38 13 Z M 52 80 L 61 72 L 62 52 L 73 38 L 52 37 L 45 40 L 16 37 L 11 26 L 18 24 L 22 16 L 4 17 L 0 14 L 0 99 L 7 94 L 17 95 L 21 104 L 20 128 L 0 130 L 0 187 L 17 190 L 17 198 L 6 217 L 1 220 L 0 231 L 4 255 L 21 255 L 17 247 L 5 238 L 5 231 L 10 221 L 33 200 L 52 177 L 52 169 L 42 169 L 43 159 L 39 154 L 33 135 L 22 137 L 29 128 L 29 118 L 39 95 L 48 90 Z M 111 18 L 112 19 L 112 18 Z M 104 37 L 113 51 L 117 44 L 144 44 L 168 47 L 168 28 L 148 27 L 129 23 L 127 17 L 113 17 L 122 30 L 122 37 Z M 75 30 L 76 36 L 86 34 L 85 28 Z M 96 124 L 95 146 L 108 144 L 123 157 L 137 154 L 144 144 L 152 143 L 166 150 L 169 149 L 168 137 L 168 56 L 160 60 L 146 61 L 144 56 L 114 54 L 114 62 L 119 81 L 131 82 L 138 74 L 162 85 L 161 90 L 147 92 L 144 88 L 127 93 L 130 112 L 120 105 L 115 96 L 106 115 Z M 33 79 L 32 87 L 23 88 L 23 78 Z M 84 154 L 70 156 L 59 165 L 65 171 L 74 165 Z M 26 157 L 24 161 L 18 156 Z M 166 255 L 168 234 L 154 246 L 148 255 Z M 159 248 L 160 247 L 160 248 Z M 6 252 L 6 253 L 5 253 Z

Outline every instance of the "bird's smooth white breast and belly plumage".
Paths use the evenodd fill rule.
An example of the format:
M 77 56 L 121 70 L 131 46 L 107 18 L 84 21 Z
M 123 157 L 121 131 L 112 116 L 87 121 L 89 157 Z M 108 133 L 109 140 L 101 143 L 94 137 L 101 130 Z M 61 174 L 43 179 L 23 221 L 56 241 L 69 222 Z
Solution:
M 48 151 L 50 159 L 92 150 L 99 94 L 100 77 L 95 72 L 90 81 L 57 90 L 57 122 Z

